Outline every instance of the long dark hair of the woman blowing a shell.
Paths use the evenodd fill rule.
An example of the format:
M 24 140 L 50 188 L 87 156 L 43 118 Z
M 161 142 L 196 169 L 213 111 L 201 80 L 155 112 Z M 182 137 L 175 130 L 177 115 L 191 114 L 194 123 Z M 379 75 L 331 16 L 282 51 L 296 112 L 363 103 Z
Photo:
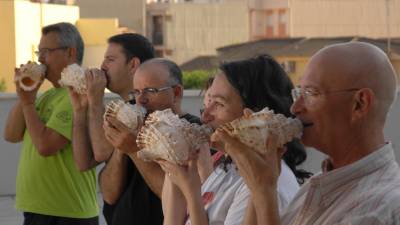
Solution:
M 291 90 L 293 84 L 281 65 L 271 56 L 262 55 L 247 60 L 223 63 L 220 70 L 229 83 L 238 91 L 244 107 L 260 111 L 268 107 L 275 113 L 293 117 L 290 106 L 293 103 Z M 299 183 L 311 173 L 296 166 L 303 163 L 307 154 L 304 146 L 294 140 L 286 144 L 287 151 L 283 155 L 286 164 L 293 171 Z

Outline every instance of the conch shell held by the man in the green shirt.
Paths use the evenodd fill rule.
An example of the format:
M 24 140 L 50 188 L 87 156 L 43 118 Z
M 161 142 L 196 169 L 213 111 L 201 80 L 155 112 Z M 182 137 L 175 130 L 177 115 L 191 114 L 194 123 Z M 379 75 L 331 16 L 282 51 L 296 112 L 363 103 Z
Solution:
M 36 62 L 28 62 L 19 68 L 21 75 L 17 77 L 19 86 L 25 91 L 34 90 L 46 73 L 46 66 Z

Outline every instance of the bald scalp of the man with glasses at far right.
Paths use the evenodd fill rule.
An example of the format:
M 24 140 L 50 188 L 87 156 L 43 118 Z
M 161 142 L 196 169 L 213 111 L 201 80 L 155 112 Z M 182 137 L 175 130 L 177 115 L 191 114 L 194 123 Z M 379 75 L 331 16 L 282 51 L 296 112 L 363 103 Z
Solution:
M 369 88 L 375 102 L 372 110 L 386 114 L 396 95 L 396 72 L 386 54 L 374 45 L 349 42 L 326 47 L 315 54 L 310 64 L 319 64 L 327 74 L 330 89 Z

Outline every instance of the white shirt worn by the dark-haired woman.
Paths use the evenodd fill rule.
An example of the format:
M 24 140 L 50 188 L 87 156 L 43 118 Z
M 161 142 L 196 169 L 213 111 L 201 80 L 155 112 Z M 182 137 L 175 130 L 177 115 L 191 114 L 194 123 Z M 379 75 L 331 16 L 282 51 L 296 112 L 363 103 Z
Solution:
M 298 190 L 295 175 L 282 160 L 277 191 L 280 212 Z M 233 163 L 227 165 L 227 171 L 218 166 L 202 185 L 201 193 L 210 225 L 243 224 L 250 191 Z M 189 224 L 190 220 L 186 222 Z

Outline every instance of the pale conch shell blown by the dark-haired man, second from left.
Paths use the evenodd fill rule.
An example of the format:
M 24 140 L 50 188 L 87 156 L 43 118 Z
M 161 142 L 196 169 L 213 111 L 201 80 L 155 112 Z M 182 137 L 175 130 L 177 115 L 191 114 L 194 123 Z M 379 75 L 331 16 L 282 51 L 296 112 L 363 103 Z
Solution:
M 86 93 L 85 69 L 74 63 L 63 69 L 58 83 L 62 87 L 72 87 L 79 94 Z

